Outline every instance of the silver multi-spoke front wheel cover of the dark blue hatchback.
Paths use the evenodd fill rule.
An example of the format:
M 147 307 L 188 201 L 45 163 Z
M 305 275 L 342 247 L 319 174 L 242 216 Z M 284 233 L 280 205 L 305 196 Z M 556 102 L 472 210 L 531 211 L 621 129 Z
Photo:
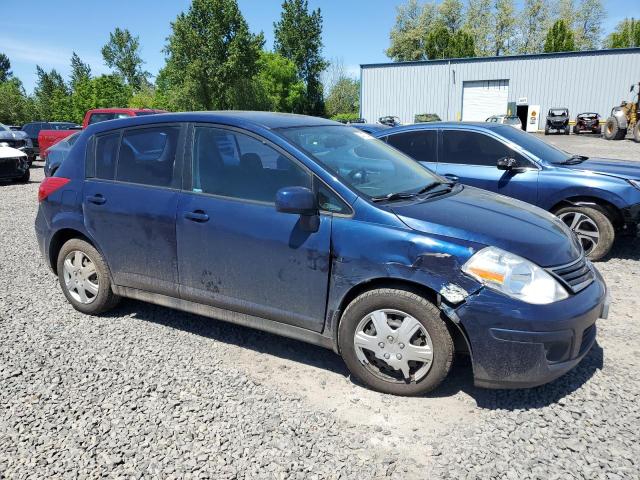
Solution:
M 386 381 L 417 382 L 433 362 L 433 343 L 426 328 L 400 310 L 375 310 L 365 316 L 353 344 L 360 362 Z

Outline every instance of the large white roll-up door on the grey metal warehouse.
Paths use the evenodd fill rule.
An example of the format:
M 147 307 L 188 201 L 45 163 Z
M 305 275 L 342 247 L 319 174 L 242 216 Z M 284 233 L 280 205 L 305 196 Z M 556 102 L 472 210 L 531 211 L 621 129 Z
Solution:
M 462 120 L 484 122 L 507 113 L 509 80 L 480 80 L 462 85 Z

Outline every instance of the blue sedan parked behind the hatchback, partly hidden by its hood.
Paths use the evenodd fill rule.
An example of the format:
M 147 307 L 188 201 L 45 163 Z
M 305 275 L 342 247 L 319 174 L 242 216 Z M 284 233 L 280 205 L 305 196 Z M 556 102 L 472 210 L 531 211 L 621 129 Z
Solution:
M 430 123 L 375 134 L 452 181 L 557 215 L 592 260 L 640 223 L 640 163 L 571 155 L 521 130 L 487 123 Z

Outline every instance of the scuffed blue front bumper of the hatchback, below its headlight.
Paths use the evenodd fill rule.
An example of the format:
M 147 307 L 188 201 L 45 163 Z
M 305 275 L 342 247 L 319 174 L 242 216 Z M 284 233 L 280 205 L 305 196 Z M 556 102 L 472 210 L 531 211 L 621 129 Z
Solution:
M 455 309 L 471 350 L 474 383 L 485 388 L 543 385 L 573 369 L 596 340 L 596 320 L 606 318 L 609 296 L 596 271 L 577 295 L 532 305 L 484 288 Z

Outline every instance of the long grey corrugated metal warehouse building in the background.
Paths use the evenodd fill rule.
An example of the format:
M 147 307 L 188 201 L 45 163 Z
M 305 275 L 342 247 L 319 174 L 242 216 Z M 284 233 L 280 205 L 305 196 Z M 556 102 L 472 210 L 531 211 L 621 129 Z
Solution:
M 640 82 L 640 48 L 459 58 L 360 66 L 360 116 L 416 114 L 484 121 L 518 115 L 528 131 L 544 129 L 546 112 L 568 107 L 606 118 Z

